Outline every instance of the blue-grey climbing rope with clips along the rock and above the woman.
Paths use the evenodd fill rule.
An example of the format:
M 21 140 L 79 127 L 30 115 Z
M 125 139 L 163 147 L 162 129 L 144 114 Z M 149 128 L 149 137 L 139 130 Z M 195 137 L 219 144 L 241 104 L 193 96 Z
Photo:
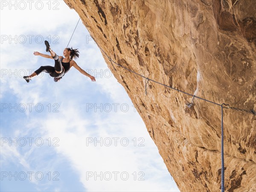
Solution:
M 79 20 L 80 20 L 80 18 L 79 18 Z M 77 27 L 78 23 L 79 23 L 79 21 L 77 22 L 76 27 Z M 74 32 L 75 32 L 75 30 L 76 30 L 76 28 L 74 29 Z M 74 34 L 74 32 L 73 32 L 73 34 Z M 72 34 L 71 38 L 73 37 L 73 34 Z M 92 36 L 91 36 L 91 37 L 92 37 Z M 70 38 L 70 40 L 71 40 L 71 38 Z M 92 37 L 92 38 L 93 38 L 93 37 Z M 178 89 L 176 89 L 176 88 L 174 88 L 174 87 L 170 87 L 170 86 L 168 86 L 168 85 L 166 85 L 166 84 L 163 84 L 163 83 L 154 81 L 153 79 L 149 79 L 148 77 L 145 77 L 145 76 L 143 76 L 143 75 L 140 75 L 139 73 L 136 73 L 136 72 L 134 72 L 134 71 L 132 71 L 132 70 L 126 68 L 126 67 L 123 67 L 122 65 L 116 63 L 115 61 L 113 61 L 112 58 L 109 57 L 109 56 L 107 55 L 107 53 L 99 46 L 99 44 L 95 41 L 94 38 L 93 38 L 93 40 L 94 40 L 94 42 L 98 45 L 98 47 L 102 50 L 102 52 L 108 57 L 108 59 L 109 59 L 109 61 L 111 62 L 111 64 L 112 64 L 112 62 L 113 62 L 114 64 L 118 65 L 119 67 L 122 67 L 122 68 L 124 68 L 124 69 L 126 69 L 126 70 L 128 70 L 128 71 L 130 71 L 130 72 L 132 72 L 132 73 L 135 73 L 136 75 L 141 76 L 142 78 L 145 78 L 145 79 L 146 79 L 146 80 L 145 80 L 145 94 L 146 94 L 146 95 L 147 95 L 147 84 L 148 84 L 148 81 L 153 81 L 153 82 L 155 82 L 155 83 L 157 83 L 157 84 L 161 84 L 161 85 L 163 85 L 163 86 L 165 86 L 165 87 L 169 87 L 169 88 L 171 88 L 171 89 L 173 89 L 173 90 L 177 90 L 178 92 L 187 94 L 187 95 L 189 95 L 189 96 L 193 96 L 191 103 L 186 104 L 186 105 L 188 106 L 188 108 L 191 108 L 191 107 L 194 105 L 194 99 L 195 99 L 195 98 L 204 100 L 204 101 L 206 101 L 206 102 L 210 102 L 210 103 L 215 104 L 215 105 L 218 105 L 218 106 L 221 106 L 221 192 L 224 192 L 225 186 L 224 186 L 224 132 L 223 132 L 223 108 L 233 109 L 233 110 L 237 110 L 237 111 L 244 111 L 244 112 L 247 112 L 247 113 L 252 113 L 253 115 L 256 115 L 256 112 L 255 112 L 253 109 L 247 110 L 247 109 L 240 109 L 240 108 L 230 107 L 228 104 L 224 104 L 224 103 L 223 103 L 223 104 L 218 104 L 218 103 L 209 101 L 209 100 L 207 100 L 207 99 L 204 99 L 204 98 L 201 98 L 201 97 L 192 95 L 192 94 L 190 94 L 190 93 L 186 93 L 185 91 L 178 90 Z M 69 43 L 70 43 L 70 41 L 69 41 Z M 68 45 L 69 45 L 69 43 L 68 43 Z M 67 45 L 67 46 L 68 46 L 68 45 Z M 113 65 L 113 64 L 112 64 L 112 65 Z M 227 107 L 225 107 L 224 105 L 227 106 Z

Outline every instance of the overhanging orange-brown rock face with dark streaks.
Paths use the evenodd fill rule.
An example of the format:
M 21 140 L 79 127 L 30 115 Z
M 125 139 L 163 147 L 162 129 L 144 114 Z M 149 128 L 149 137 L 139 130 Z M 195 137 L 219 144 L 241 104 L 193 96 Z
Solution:
M 256 109 L 255 0 L 64 0 L 116 63 L 218 104 Z M 221 187 L 221 108 L 109 61 L 180 191 Z M 256 116 L 224 109 L 225 190 L 256 191 Z

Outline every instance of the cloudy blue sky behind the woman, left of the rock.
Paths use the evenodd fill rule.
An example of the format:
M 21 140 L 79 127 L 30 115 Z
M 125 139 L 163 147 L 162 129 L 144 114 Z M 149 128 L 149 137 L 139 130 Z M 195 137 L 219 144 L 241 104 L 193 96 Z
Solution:
M 0 190 L 179 191 L 81 21 L 69 47 L 79 49 L 77 64 L 96 82 L 75 68 L 58 83 L 47 73 L 22 79 L 53 66 L 33 52 L 47 54 L 48 40 L 61 55 L 78 14 L 63 1 L 9 2 L 0 10 Z

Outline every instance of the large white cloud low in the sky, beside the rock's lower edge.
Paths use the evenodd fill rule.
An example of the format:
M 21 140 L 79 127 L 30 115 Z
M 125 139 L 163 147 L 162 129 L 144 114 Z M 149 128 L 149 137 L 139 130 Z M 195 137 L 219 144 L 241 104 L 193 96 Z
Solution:
M 47 137 L 58 135 L 60 146 L 56 150 L 58 153 L 64 154 L 72 162 L 74 168 L 81 175 L 81 182 L 89 191 L 172 190 L 170 185 L 162 186 L 162 177 L 156 175 L 162 175 L 166 171 L 163 160 L 162 165 L 157 165 L 157 168 L 160 168 L 160 170 L 149 166 L 157 163 L 156 161 L 160 160 L 161 157 L 158 156 L 157 160 L 155 159 L 158 152 L 157 148 L 145 131 L 145 125 L 138 118 L 138 115 L 136 118 L 133 112 L 126 113 L 125 116 L 122 115 L 122 112 L 111 113 L 112 119 L 118 119 L 116 124 L 112 123 L 109 117 L 103 119 L 102 116 L 99 116 L 102 118 L 100 119 L 101 123 L 99 123 L 99 119 L 95 119 L 96 124 L 94 126 L 87 126 L 90 120 L 80 114 L 83 114 L 83 111 L 69 111 L 61 115 L 59 114 L 63 116 L 61 120 L 55 120 L 54 118 L 49 120 L 50 118 L 47 118 L 47 122 L 44 121 L 42 123 L 47 128 L 49 134 Z M 118 134 L 109 132 L 109 130 L 114 129 Z M 137 146 L 139 143 L 138 138 L 136 138 L 137 143 L 134 146 L 133 139 L 137 136 L 143 136 L 143 139 L 145 139 L 143 144 L 147 146 Z M 100 143 L 89 143 L 91 140 L 95 142 L 94 137 L 98 141 L 102 138 L 103 145 L 100 146 Z M 117 146 L 114 145 L 115 140 L 113 137 L 119 138 L 116 139 Z M 128 146 L 123 146 L 126 142 L 121 143 L 120 140 L 122 138 L 129 141 Z M 109 141 L 112 142 L 112 145 L 109 147 L 104 146 L 104 140 L 106 145 L 109 145 Z M 152 156 L 154 159 L 151 160 Z M 114 172 L 119 172 L 118 180 L 106 180 L 104 177 L 102 177 L 102 180 L 100 180 L 100 177 L 96 177 L 95 180 L 93 177 L 88 177 L 91 173 L 94 175 L 95 172 L 99 175 L 102 172 L 102 176 L 105 174 L 106 179 L 109 176 L 107 172 L 110 172 L 112 177 L 114 177 Z M 128 180 L 122 180 L 120 177 L 120 174 L 125 172 L 129 175 Z M 137 175 L 135 181 L 135 175 L 132 175 L 134 172 Z M 141 173 L 139 174 L 139 172 Z M 145 175 L 143 176 L 143 174 Z M 152 175 L 155 176 L 152 177 Z M 145 180 L 138 180 L 140 176 L 143 176 L 142 178 Z

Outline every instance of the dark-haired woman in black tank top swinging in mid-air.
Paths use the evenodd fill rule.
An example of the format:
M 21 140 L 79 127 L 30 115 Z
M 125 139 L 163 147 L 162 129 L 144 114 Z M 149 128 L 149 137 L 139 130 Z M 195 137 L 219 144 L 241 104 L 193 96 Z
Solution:
M 38 70 L 35 70 L 30 76 L 24 76 L 23 78 L 29 82 L 33 77 L 38 76 L 41 72 L 49 73 L 50 76 L 54 77 L 54 81 L 58 82 L 64 75 L 67 73 L 71 67 L 75 67 L 79 70 L 80 73 L 89 77 L 92 81 L 96 79 L 86 73 L 84 70 L 79 67 L 73 59 L 79 58 L 79 51 L 77 49 L 65 48 L 63 51 L 63 56 L 58 56 L 55 52 L 52 51 L 48 41 L 44 41 L 46 45 L 46 51 L 50 52 L 51 55 L 45 55 L 40 52 L 34 52 L 34 55 L 40 55 L 45 58 L 51 58 L 55 60 L 54 67 L 52 66 L 41 66 Z

